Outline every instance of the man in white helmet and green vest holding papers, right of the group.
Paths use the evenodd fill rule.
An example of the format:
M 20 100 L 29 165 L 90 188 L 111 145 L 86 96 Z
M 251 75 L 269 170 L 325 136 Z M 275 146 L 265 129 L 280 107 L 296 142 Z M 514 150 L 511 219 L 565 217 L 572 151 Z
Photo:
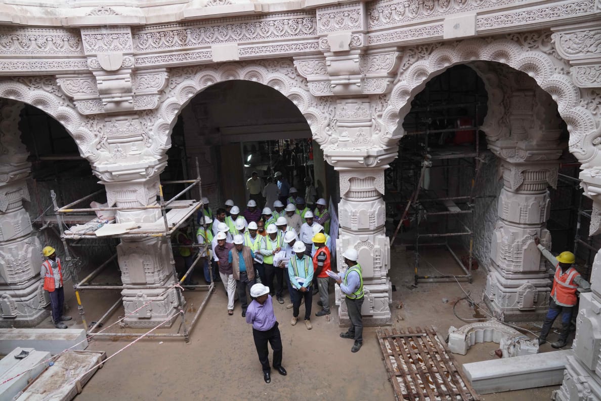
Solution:
M 347 312 L 349 313 L 350 327 L 347 332 L 340 333 L 342 338 L 355 340 L 351 352 L 357 352 L 363 344 L 363 320 L 361 306 L 363 305 L 363 272 L 357 262 L 359 255 L 354 248 L 349 248 L 342 254 L 344 264 L 348 266 L 346 272 L 340 272 L 336 283 L 345 296 Z

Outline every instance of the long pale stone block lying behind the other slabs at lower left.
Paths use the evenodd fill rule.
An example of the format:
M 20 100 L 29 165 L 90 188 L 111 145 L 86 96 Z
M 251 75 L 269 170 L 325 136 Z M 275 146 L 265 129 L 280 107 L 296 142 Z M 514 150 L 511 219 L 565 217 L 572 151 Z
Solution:
M 0 354 L 8 354 L 17 346 L 55 355 L 70 347 L 84 350 L 88 341 L 84 329 L 0 329 Z

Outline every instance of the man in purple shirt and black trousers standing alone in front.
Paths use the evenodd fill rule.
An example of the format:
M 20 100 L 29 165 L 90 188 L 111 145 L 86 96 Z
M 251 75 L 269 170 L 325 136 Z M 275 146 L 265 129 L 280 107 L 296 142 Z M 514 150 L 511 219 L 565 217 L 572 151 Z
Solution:
M 246 309 L 246 323 L 252 324 L 252 337 L 255 340 L 259 361 L 263 367 L 263 379 L 271 382 L 271 367 L 269 366 L 269 348 L 273 350 L 273 367 L 280 375 L 288 373 L 282 367 L 282 337 L 279 334 L 278 322 L 273 313 L 273 299 L 269 295 L 269 287 L 254 284 L 251 287 L 253 301 Z

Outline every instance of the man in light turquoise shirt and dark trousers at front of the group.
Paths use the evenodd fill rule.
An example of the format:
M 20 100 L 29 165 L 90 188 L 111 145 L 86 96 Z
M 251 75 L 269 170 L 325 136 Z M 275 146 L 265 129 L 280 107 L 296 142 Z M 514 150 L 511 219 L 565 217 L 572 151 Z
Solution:
M 301 299 L 305 301 L 305 327 L 311 330 L 311 304 L 313 303 L 313 261 L 305 254 L 305 244 L 301 241 L 294 242 L 292 248 L 294 256 L 288 262 L 288 275 L 292 285 L 292 319 L 291 325 L 296 325 L 301 307 Z

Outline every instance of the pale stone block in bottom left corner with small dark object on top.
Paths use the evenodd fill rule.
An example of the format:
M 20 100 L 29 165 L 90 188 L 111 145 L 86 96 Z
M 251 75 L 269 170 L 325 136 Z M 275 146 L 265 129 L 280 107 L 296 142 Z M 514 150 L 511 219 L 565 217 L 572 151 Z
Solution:
M 29 355 L 19 360 L 14 358 L 22 351 L 29 352 Z M 8 355 L 0 360 L 0 383 L 7 379 L 14 379 L 0 384 L 0 401 L 12 401 L 29 382 L 46 369 L 47 364 L 43 362 L 49 358 L 50 352 L 38 351 L 29 347 L 16 347 L 8 352 Z M 17 375 L 20 376 L 15 377 Z

